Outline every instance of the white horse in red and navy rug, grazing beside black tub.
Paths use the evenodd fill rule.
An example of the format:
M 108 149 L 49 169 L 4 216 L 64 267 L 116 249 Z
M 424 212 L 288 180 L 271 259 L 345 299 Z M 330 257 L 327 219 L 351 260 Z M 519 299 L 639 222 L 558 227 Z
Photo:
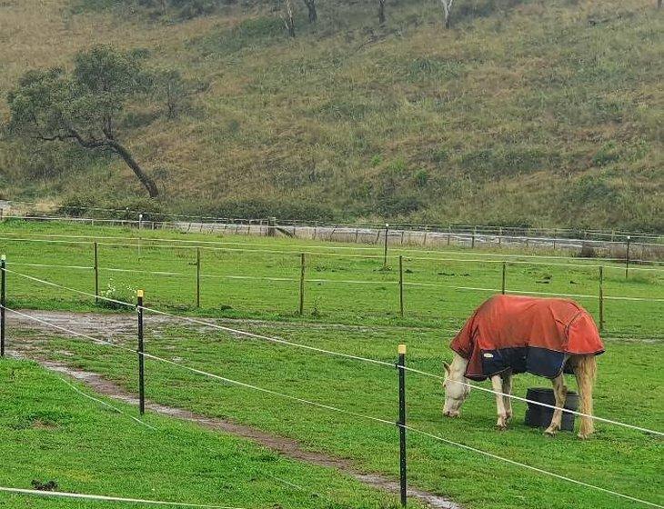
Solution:
M 592 316 L 568 299 L 495 295 L 480 305 L 450 344 L 452 364 L 445 365 L 443 414 L 458 417 L 471 380 L 491 379 L 493 390 L 511 394 L 512 374 L 545 376 L 553 383 L 556 410 L 545 431 L 560 429 L 567 387 L 563 373 L 575 374 L 580 413 L 592 415 L 592 389 L 597 374 L 595 356 L 604 345 Z M 511 398 L 496 394 L 498 429 L 512 416 Z M 581 416 L 579 438 L 594 431 L 590 417 Z

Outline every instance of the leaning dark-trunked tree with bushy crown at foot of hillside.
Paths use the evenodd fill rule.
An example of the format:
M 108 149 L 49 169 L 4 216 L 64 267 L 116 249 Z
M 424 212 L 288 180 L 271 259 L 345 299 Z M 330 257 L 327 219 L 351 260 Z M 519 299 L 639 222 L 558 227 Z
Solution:
M 91 153 L 117 155 L 156 197 L 155 182 L 123 137 L 127 109 L 143 105 L 154 94 L 155 83 L 136 53 L 95 46 L 75 56 L 71 72 L 52 67 L 22 76 L 7 96 L 9 132 L 33 144 L 77 144 Z

